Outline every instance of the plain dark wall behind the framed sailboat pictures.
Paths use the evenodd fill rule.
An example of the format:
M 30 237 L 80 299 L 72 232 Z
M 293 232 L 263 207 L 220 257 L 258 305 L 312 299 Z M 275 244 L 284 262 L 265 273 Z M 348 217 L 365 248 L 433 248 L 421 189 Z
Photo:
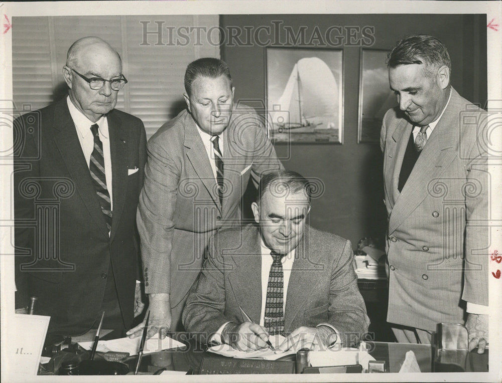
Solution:
M 231 27 L 236 27 L 235 31 L 244 27 L 256 31 L 260 26 L 274 28 L 281 22 L 281 28 L 289 26 L 293 31 L 307 26 L 307 36 L 315 26 L 322 35 L 330 26 L 372 26 L 375 39 L 371 48 L 374 49 L 390 49 L 409 34 L 436 36 L 449 50 L 453 87 L 474 103 L 484 105 L 486 101 L 485 15 L 220 16 L 220 27 L 224 31 L 232 30 Z M 264 41 L 267 33 L 262 32 L 260 38 Z M 279 39 L 284 41 L 285 36 L 279 33 Z M 221 47 L 221 57 L 230 66 L 236 88 L 235 100 L 258 98 L 265 102 L 264 46 L 238 46 L 235 43 L 235 40 L 228 39 L 227 34 L 226 44 Z M 291 158 L 285 160 L 284 165 L 325 182 L 324 195 L 313 201 L 310 223 L 350 239 L 355 248 L 362 237 L 383 239 L 385 235 L 387 219 L 382 202 L 382 154 L 378 145 L 357 143 L 360 47 L 345 45 L 336 48 L 343 48 L 344 142 L 342 145 L 292 145 Z M 276 149 L 280 156 L 286 156 L 287 146 L 276 144 Z

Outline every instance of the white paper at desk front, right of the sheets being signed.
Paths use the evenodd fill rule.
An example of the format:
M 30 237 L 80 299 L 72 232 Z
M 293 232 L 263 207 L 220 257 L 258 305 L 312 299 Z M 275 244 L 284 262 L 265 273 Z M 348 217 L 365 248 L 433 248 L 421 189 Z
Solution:
M 322 351 L 309 351 L 309 362 L 312 367 L 341 366 L 360 364 L 363 370 L 368 370 L 370 360 L 375 360 L 367 351 L 357 348 L 331 348 Z

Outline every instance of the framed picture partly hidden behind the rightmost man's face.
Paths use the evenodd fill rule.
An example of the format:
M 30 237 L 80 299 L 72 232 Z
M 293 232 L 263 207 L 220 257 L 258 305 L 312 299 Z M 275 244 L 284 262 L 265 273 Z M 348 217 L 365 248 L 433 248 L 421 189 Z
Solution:
M 357 143 L 380 143 L 384 114 L 398 105 L 389 87 L 387 53 L 382 49 L 360 50 Z

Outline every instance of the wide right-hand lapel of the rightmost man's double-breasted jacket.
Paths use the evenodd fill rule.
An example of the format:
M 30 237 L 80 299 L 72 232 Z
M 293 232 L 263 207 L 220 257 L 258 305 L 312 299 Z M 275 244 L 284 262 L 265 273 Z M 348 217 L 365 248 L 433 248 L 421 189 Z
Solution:
M 458 119 L 455 104 L 456 97 L 452 94 L 450 104 L 428 138 L 393 208 L 389 219 L 389 234 L 393 233 L 425 200 L 434 181 L 455 158 L 457 154 L 455 148 L 458 146 L 459 137 L 458 124 L 455 123 L 455 119 Z M 398 178 L 399 171 L 400 169 L 395 169 Z

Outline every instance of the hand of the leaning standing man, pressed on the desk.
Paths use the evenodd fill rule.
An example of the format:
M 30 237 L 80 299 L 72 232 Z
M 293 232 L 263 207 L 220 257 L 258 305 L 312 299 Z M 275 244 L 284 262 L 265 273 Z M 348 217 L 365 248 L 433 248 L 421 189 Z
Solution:
M 148 322 L 147 338 L 151 338 L 158 332 L 159 338 L 164 339 L 172 322 L 169 294 L 149 294 L 148 297 L 150 301 L 150 320 Z M 130 338 L 141 336 L 144 327 L 145 321 L 126 332 L 126 335 Z

